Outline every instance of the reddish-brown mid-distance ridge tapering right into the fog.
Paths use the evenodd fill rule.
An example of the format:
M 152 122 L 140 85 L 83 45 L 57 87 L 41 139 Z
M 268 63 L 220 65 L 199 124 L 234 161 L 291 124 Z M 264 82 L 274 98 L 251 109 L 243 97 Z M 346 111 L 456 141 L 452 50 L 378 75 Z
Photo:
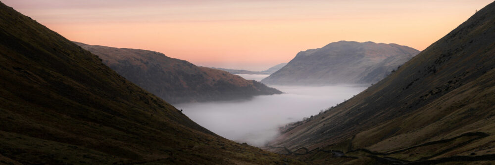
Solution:
M 198 67 L 162 53 L 75 42 L 127 80 L 170 103 L 246 99 L 282 92 L 225 71 Z

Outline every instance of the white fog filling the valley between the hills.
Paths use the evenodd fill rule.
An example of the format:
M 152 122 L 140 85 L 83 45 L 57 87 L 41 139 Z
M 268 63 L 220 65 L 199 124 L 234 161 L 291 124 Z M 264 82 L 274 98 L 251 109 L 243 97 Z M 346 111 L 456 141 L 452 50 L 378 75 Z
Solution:
M 240 75 L 259 81 L 268 75 Z M 366 89 L 363 85 L 276 86 L 284 94 L 255 96 L 250 100 L 183 103 L 196 123 L 236 142 L 263 146 L 278 134 L 278 127 L 318 114 Z

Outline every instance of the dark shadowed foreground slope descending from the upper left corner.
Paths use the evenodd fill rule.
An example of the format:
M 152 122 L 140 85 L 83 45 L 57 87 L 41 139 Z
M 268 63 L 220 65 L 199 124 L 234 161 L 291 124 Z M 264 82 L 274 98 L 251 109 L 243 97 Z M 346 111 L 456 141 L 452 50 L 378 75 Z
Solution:
M 219 137 L 0 3 L 0 164 L 293 162 Z

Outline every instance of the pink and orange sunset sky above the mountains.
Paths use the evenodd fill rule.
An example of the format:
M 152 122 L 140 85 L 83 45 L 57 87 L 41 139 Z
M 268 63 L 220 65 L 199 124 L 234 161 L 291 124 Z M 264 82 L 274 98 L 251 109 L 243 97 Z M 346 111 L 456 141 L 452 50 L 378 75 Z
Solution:
M 335 41 L 423 50 L 493 0 L 1 0 L 71 41 L 266 70 Z

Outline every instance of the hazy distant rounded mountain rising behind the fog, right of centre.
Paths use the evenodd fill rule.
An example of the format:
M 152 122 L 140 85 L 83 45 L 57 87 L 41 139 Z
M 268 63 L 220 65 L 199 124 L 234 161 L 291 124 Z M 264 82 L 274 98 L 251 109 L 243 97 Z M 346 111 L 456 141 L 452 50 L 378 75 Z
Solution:
M 278 85 L 375 83 L 418 53 L 414 48 L 394 43 L 332 42 L 297 53 L 286 66 L 261 82 Z

